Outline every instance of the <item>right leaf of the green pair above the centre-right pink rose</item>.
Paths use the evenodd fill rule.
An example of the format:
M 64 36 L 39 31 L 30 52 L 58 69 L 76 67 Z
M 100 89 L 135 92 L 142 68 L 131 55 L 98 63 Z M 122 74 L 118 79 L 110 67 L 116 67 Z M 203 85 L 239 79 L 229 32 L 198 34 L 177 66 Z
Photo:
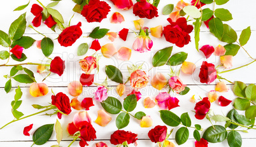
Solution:
M 168 60 L 167 65 L 168 66 L 178 66 L 182 64 L 188 57 L 188 53 L 185 52 L 178 52 L 171 56 L 171 58 Z

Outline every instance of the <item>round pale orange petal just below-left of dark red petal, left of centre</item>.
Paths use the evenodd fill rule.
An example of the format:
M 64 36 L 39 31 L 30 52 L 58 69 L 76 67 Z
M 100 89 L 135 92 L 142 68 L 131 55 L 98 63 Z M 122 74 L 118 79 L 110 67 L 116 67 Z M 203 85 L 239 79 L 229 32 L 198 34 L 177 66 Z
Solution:
M 83 92 L 83 85 L 80 81 L 72 81 L 68 85 L 68 92 L 70 95 L 76 97 Z

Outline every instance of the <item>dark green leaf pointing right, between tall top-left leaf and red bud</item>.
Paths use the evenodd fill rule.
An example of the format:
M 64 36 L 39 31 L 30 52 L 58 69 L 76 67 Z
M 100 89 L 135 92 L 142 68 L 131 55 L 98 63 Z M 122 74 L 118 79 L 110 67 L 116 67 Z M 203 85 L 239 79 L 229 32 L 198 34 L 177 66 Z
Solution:
M 13 41 L 13 43 L 11 43 L 11 48 L 13 48 L 15 45 L 19 45 L 19 46 L 22 46 L 23 48 L 27 49 L 33 45 L 34 41 L 36 41 L 36 40 L 29 36 L 22 36 L 20 39 L 15 40 L 15 41 Z

